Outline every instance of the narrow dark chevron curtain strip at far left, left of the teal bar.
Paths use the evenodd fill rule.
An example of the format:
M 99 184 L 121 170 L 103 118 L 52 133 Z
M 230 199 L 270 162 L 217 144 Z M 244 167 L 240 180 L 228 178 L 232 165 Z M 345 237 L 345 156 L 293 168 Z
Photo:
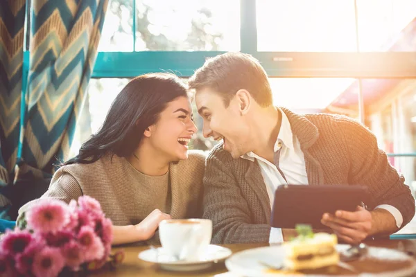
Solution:
M 0 1 L 0 186 L 12 181 L 19 144 L 25 8 L 25 0 Z

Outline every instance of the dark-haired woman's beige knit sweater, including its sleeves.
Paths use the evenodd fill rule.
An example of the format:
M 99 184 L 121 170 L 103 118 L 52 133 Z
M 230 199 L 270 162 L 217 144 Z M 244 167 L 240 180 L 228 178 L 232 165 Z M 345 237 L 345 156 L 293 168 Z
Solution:
M 143 175 L 125 158 L 108 154 L 95 163 L 62 166 L 41 198 L 52 197 L 68 203 L 89 195 L 100 202 L 105 215 L 119 226 L 138 224 L 154 208 L 170 213 L 173 218 L 201 217 L 204 170 L 205 156 L 196 151 L 189 151 L 186 161 L 172 163 L 168 176 L 162 177 Z M 19 209 L 18 220 L 36 201 Z

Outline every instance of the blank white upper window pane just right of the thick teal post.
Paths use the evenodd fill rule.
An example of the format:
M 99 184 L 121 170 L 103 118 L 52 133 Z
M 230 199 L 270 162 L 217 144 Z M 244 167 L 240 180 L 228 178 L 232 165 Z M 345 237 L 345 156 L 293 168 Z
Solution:
M 259 51 L 355 51 L 354 1 L 257 0 Z

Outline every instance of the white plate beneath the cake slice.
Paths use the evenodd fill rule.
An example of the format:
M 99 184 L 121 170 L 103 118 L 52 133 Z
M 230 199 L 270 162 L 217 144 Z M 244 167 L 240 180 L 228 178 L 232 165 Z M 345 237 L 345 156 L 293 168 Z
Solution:
M 350 247 L 347 244 L 338 244 L 336 246 L 338 251 L 343 251 Z M 398 271 L 388 271 L 382 274 L 361 274 L 359 276 L 376 276 L 376 277 L 394 277 L 394 276 L 413 276 L 416 272 L 416 262 L 413 258 L 406 255 L 406 253 L 381 248 L 381 247 L 368 247 L 368 255 L 374 258 L 383 258 L 389 260 L 410 260 L 412 266 L 406 269 L 400 269 Z M 279 276 L 279 274 L 267 274 L 266 265 L 273 267 L 279 267 L 284 260 L 284 248 L 281 245 L 273 247 L 260 247 L 255 249 L 248 249 L 234 254 L 232 257 L 225 261 L 225 266 L 229 271 L 239 276 Z M 266 265 L 262 264 L 265 263 Z M 286 275 L 287 276 L 287 275 Z M 308 275 L 312 276 L 312 275 Z M 321 275 L 322 276 L 322 275 Z M 331 275 L 333 276 L 333 275 Z M 345 276 L 345 275 L 343 275 Z M 353 276 L 353 275 L 352 275 Z M 357 275 L 354 275 L 357 276 Z

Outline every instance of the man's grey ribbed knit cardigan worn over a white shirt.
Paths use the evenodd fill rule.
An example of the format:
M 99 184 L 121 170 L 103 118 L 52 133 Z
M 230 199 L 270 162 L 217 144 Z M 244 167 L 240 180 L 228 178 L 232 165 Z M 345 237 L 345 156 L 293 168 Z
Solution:
M 345 116 L 303 116 L 281 109 L 299 139 L 309 185 L 365 185 L 372 196 L 367 206 L 396 207 L 402 226 L 412 219 L 415 199 L 374 134 Z M 207 158 L 204 189 L 203 217 L 213 221 L 213 243 L 268 242 L 270 200 L 257 163 L 232 159 L 218 145 Z

